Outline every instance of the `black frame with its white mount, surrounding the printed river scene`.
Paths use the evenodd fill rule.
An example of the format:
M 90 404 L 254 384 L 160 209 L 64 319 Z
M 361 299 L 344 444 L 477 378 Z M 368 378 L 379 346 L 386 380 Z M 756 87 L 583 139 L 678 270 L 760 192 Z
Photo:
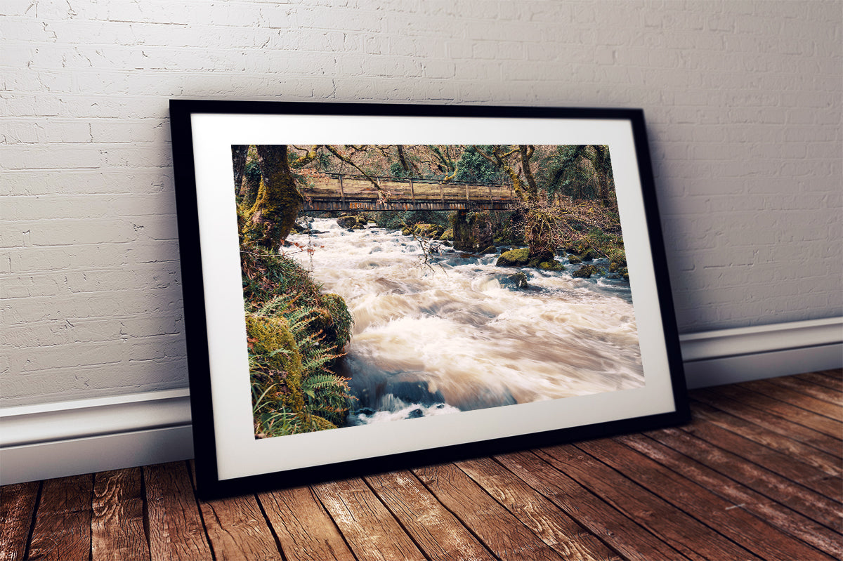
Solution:
M 202 496 L 223 496 L 252 489 L 288 487 L 460 457 L 475 457 L 562 441 L 651 430 L 666 425 L 682 424 L 690 419 L 642 110 L 193 99 L 172 99 L 169 110 L 196 484 Z M 310 450 L 315 453 L 320 447 L 329 446 L 323 441 L 327 438 L 324 434 L 335 431 L 295 435 L 296 445 L 291 452 L 285 451 L 285 447 L 290 445 L 283 442 L 284 439 L 292 439 L 291 436 L 257 441 L 254 436 L 250 438 L 247 435 L 246 427 L 235 430 L 229 426 L 236 425 L 239 421 L 234 419 L 241 419 L 241 413 L 244 412 L 239 409 L 229 410 L 228 396 L 239 395 L 242 392 L 239 387 L 232 390 L 232 387 L 225 385 L 228 384 L 228 378 L 221 378 L 221 374 L 215 372 L 227 368 L 242 369 L 246 339 L 244 330 L 241 338 L 215 334 L 215 330 L 221 328 L 221 323 L 237 323 L 226 320 L 225 313 L 217 313 L 213 309 L 217 307 L 217 302 L 230 298 L 231 302 L 236 303 L 237 297 L 240 297 L 242 313 L 243 293 L 239 283 L 239 259 L 236 254 L 232 254 L 232 251 L 236 250 L 221 249 L 231 248 L 232 236 L 236 243 L 236 216 L 228 216 L 234 209 L 234 203 L 226 202 L 223 195 L 214 193 L 222 189 L 219 185 L 224 184 L 226 180 L 232 187 L 234 185 L 230 179 L 231 145 L 309 142 L 295 135 L 312 136 L 312 129 L 325 128 L 325 120 L 330 123 L 345 123 L 336 142 L 349 142 L 347 139 L 354 136 L 354 127 L 362 124 L 369 132 L 375 130 L 372 134 L 364 135 L 366 138 L 362 140 L 367 142 L 372 136 L 378 137 L 377 131 L 380 131 L 385 144 L 397 144 L 400 142 L 394 142 L 393 139 L 402 137 L 402 129 L 406 131 L 408 128 L 421 128 L 438 131 L 433 134 L 440 134 L 437 138 L 441 138 L 443 143 L 459 144 L 465 143 L 462 140 L 465 129 L 478 128 L 473 126 L 477 123 L 481 129 L 486 127 L 487 130 L 502 130 L 503 137 L 507 137 L 507 131 L 511 130 L 513 144 L 517 144 L 518 139 L 529 137 L 532 131 L 539 131 L 539 136 L 549 137 L 551 140 L 556 138 L 555 131 L 564 131 L 558 133 L 560 142 L 536 143 L 608 145 L 612 151 L 613 170 L 620 169 L 615 168 L 617 165 L 623 168 L 620 173 L 625 174 L 621 179 L 618 172 L 615 172 L 615 186 L 618 191 L 621 222 L 624 222 L 626 213 L 624 240 L 627 254 L 635 254 L 630 258 L 630 276 L 638 335 L 642 340 L 642 371 L 645 381 L 642 387 L 612 393 L 628 395 L 620 398 L 614 396 L 611 399 L 615 401 L 611 402 L 607 401 L 609 397 L 595 397 L 591 401 L 585 401 L 586 398 L 550 400 L 556 403 L 554 407 L 566 408 L 568 400 L 583 399 L 582 407 L 588 410 L 588 414 L 583 417 L 588 419 L 583 422 L 562 419 L 562 412 L 562 420 L 550 428 L 547 421 L 542 421 L 544 425 L 536 425 L 535 430 L 531 430 L 533 425 L 525 421 L 526 428 L 518 429 L 517 434 L 511 431 L 498 434 L 494 430 L 490 433 L 484 429 L 486 432 L 480 437 L 470 435 L 462 437 L 462 440 L 453 441 L 452 438 L 451 441 L 440 441 L 442 435 L 433 434 L 427 438 L 422 430 L 421 433 L 401 438 L 403 429 L 400 425 L 411 425 L 410 421 L 403 420 L 392 424 L 399 427 L 392 429 L 398 432 L 387 436 L 380 433 L 371 436 L 365 434 L 369 426 L 339 429 L 357 431 L 349 432 L 346 436 L 353 436 L 353 440 L 359 443 L 357 447 L 363 449 L 357 457 L 338 457 L 335 460 L 325 457 L 322 453 L 312 462 L 304 458 L 293 467 L 285 463 L 290 456 L 307 455 Z M 398 126 L 395 126 L 396 123 Z M 326 130 L 331 128 L 327 127 Z M 605 137 L 601 137 L 601 134 Z M 334 141 L 328 139 L 328 142 Z M 227 161 L 221 156 L 226 153 Z M 228 179 L 221 179 L 221 174 L 225 178 L 226 173 Z M 621 190 L 625 190 L 624 204 L 628 208 L 620 206 Z M 233 188 L 228 189 L 228 194 L 233 200 Z M 631 203 L 627 205 L 627 201 Z M 634 238 L 627 235 L 627 224 L 635 225 Z M 232 316 L 229 315 L 228 318 L 230 317 Z M 248 365 L 246 368 L 248 369 Z M 239 376 L 242 380 L 242 374 Z M 224 380 L 224 383 L 221 380 Z M 609 396 L 609 393 L 601 393 L 599 396 Z M 239 396 L 238 399 L 239 408 L 243 409 L 244 398 Z M 626 403 L 627 401 L 630 403 Z M 507 408 L 484 411 L 486 415 L 494 415 L 494 411 L 498 409 Z M 624 413 L 626 409 L 630 412 Z M 543 411 L 544 413 L 539 415 L 545 419 L 547 409 Z M 459 415 L 465 414 L 460 413 L 456 416 Z M 493 418 L 485 419 L 484 425 L 487 425 L 488 420 Z M 414 423 L 415 421 L 416 419 L 413 420 Z M 245 420 L 240 425 L 244 422 Z M 439 422 L 432 425 L 429 431 L 459 433 L 459 430 L 443 430 L 443 426 L 448 425 Z M 228 435 L 229 432 L 237 430 L 239 436 Z M 419 434 L 425 437 L 420 438 Z M 402 445 L 404 447 L 395 450 L 387 446 L 385 451 L 383 447 L 366 451 L 369 442 L 384 439 L 416 441 L 421 444 L 411 449 Z

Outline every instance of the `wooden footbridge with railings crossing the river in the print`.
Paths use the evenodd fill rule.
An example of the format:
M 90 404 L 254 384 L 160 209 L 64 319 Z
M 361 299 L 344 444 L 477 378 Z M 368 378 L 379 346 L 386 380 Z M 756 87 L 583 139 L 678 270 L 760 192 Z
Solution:
M 301 190 L 303 211 L 504 211 L 518 201 L 513 190 L 497 183 L 462 183 L 437 179 L 325 174 Z

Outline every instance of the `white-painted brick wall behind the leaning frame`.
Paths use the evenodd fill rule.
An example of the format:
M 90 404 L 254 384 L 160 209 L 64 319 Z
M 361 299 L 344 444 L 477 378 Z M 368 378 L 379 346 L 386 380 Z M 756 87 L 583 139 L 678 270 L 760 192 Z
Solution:
M 3 0 L 0 405 L 186 384 L 169 98 L 642 107 L 684 333 L 843 313 L 840 2 Z

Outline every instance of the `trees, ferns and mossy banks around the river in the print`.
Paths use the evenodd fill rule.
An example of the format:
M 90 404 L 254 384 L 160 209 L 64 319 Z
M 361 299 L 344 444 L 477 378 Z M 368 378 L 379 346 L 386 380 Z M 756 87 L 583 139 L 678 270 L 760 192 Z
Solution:
M 352 227 L 373 220 L 454 250 L 495 253 L 497 264 L 626 278 L 609 148 L 599 145 L 234 145 L 241 265 L 250 349 L 255 435 L 341 426 L 353 409 L 347 380 L 332 372 L 350 339 L 341 297 L 320 294 L 306 270 L 279 253 L 303 206 L 303 187 L 319 174 L 507 184 L 512 211 L 379 211 L 341 216 Z M 335 213 L 336 214 L 336 213 Z M 496 248 L 497 246 L 497 248 Z M 526 247 L 518 247 L 526 246 Z M 312 250 L 312 249 L 311 249 Z

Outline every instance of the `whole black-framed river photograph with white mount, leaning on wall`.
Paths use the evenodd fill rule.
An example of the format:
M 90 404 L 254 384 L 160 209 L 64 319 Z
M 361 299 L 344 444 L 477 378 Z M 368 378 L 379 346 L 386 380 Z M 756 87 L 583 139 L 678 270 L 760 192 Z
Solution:
M 201 494 L 689 419 L 641 110 L 170 117 Z

